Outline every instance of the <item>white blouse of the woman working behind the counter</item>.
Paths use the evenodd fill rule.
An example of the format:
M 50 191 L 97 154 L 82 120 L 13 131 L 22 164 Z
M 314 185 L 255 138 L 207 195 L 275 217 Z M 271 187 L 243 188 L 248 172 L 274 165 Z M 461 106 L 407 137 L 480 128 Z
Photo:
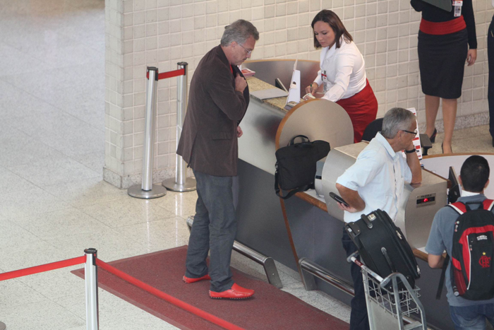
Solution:
M 340 47 L 325 47 L 320 54 L 320 70 L 314 82 L 323 83 L 325 73 L 324 96 L 326 100 L 350 98 L 366 87 L 366 65 L 362 54 L 354 42 L 347 43 L 343 36 Z

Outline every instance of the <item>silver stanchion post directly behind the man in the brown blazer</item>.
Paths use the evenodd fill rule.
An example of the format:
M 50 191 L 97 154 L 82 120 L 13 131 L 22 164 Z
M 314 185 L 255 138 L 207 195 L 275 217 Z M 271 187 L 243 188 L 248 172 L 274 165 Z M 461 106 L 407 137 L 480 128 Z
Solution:
M 187 63 L 179 62 L 176 64 L 177 69 L 183 69 L 185 74 L 178 76 L 176 86 L 176 147 L 179 146 L 180 136 L 182 134 L 183 120 L 185 119 L 187 109 Z M 186 163 L 181 156 L 175 155 L 175 178 L 171 177 L 162 182 L 163 187 L 171 191 L 191 191 L 195 190 L 195 179 L 187 177 Z

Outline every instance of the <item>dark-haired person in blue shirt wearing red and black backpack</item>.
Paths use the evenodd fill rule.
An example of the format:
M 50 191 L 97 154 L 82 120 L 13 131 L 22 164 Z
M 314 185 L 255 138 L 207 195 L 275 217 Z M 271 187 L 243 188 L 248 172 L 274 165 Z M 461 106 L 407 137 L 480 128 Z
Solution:
M 494 324 L 494 201 L 483 194 L 489 172 L 486 158 L 465 160 L 458 178 L 462 196 L 435 214 L 426 245 L 431 268 L 442 268 L 450 259 L 445 284 L 457 330 L 486 329 L 486 319 Z

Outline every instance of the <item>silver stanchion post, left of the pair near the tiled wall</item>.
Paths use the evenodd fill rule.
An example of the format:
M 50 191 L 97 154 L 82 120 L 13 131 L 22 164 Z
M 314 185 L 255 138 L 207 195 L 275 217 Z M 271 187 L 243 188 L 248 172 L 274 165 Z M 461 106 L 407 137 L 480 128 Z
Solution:
M 156 94 L 158 86 L 158 69 L 147 67 L 146 87 L 146 118 L 143 152 L 143 184 L 135 184 L 127 189 L 127 193 L 140 199 L 154 199 L 167 194 L 160 184 L 152 184 L 152 163 L 155 152 L 155 115 Z

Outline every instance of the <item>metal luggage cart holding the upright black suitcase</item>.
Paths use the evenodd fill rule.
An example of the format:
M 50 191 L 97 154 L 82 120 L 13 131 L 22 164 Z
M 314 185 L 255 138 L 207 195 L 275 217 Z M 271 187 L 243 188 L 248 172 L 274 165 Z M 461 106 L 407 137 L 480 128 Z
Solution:
M 415 286 L 412 289 L 402 273 L 391 273 L 382 278 L 356 259 L 357 255 L 357 252 L 351 254 L 348 261 L 354 262 L 362 269 L 370 330 L 427 330 L 426 312 L 418 300 L 420 288 Z M 404 289 L 398 288 L 398 279 L 404 284 Z M 392 290 L 388 290 L 390 283 Z M 412 313 L 420 313 L 420 320 L 411 317 Z M 411 317 L 413 321 L 404 324 L 404 317 Z

